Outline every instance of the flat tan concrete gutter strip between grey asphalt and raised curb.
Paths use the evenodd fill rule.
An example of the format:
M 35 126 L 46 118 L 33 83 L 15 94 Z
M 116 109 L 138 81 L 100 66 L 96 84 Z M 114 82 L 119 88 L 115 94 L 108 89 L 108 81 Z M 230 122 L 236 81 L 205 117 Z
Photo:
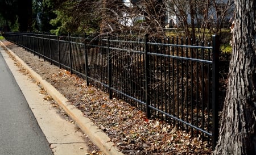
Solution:
M 40 93 L 42 89 L 32 82 L 27 75 L 23 75 L 18 71 L 19 68 L 5 51 L 1 50 L 0 52 L 0 55 L 2 54 L 5 59 L 3 61 L 6 61 L 7 67 L 10 68 L 15 78 L 14 81 L 19 85 L 15 89 L 22 90 L 26 98 L 25 102 L 29 106 L 28 108 L 32 110 L 36 121 L 43 131 L 43 136 L 48 141 L 47 147 L 49 148 L 50 146 L 55 155 L 89 154 L 89 142 L 86 135 L 77 128 L 77 125 L 65 120 L 61 116 L 59 109 L 55 108 L 55 105 L 44 99 L 45 95 Z M 26 124 L 24 123 L 24 125 Z

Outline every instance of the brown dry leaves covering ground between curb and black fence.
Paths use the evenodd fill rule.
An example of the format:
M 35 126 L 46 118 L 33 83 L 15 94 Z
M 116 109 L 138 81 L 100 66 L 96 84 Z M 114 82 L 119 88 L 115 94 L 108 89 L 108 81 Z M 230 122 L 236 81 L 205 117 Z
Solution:
M 148 120 L 144 112 L 122 100 L 110 100 L 108 94 L 86 86 L 84 79 L 67 70 L 51 66 L 52 74 L 46 72 L 49 63 L 27 56 L 31 55 L 28 52 L 15 53 L 104 130 L 124 154 L 212 154 L 210 146 L 199 138 L 158 119 Z

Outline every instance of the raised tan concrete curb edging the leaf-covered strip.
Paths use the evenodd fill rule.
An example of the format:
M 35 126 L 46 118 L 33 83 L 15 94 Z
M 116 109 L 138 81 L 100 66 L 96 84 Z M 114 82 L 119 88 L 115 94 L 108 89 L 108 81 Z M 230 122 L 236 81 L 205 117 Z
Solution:
M 42 87 L 47 91 L 49 95 L 63 108 L 63 110 L 76 122 L 81 130 L 88 135 L 89 139 L 100 148 L 107 155 L 124 155 L 119 152 L 114 146 L 114 143 L 110 141 L 110 138 L 101 131 L 89 118 L 85 118 L 80 110 L 75 106 L 68 103 L 68 99 L 59 93 L 51 84 L 39 76 L 34 70 L 30 68 L 23 60 L 15 55 L 9 48 L 7 48 L 2 41 L 0 43 L 6 51 L 10 52 L 11 55 L 27 70 L 31 76 L 40 83 Z

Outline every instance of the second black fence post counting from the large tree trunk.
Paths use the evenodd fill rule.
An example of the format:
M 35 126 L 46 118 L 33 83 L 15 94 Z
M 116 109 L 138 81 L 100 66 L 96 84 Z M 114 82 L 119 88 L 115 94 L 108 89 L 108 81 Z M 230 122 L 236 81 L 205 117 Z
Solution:
M 145 64 L 145 97 L 146 97 L 146 115 L 147 118 L 151 118 L 151 111 L 150 111 L 150 94 L 149 94 L 149 83 L 150 83 L 150 72 L 149 72 L 149 57 L 148 57 L 148 34 L 144 36 L 144 64 Z

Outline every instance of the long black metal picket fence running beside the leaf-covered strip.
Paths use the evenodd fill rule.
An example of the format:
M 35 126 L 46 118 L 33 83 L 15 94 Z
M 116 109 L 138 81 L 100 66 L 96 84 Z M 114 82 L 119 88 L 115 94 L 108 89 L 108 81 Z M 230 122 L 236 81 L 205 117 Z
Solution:
M 218 138 L 218 36 L 212 46 L 178 37 L 134 39 L 5 33 L 39 58 L 69 69 L 119 99 L 191 132 Z

